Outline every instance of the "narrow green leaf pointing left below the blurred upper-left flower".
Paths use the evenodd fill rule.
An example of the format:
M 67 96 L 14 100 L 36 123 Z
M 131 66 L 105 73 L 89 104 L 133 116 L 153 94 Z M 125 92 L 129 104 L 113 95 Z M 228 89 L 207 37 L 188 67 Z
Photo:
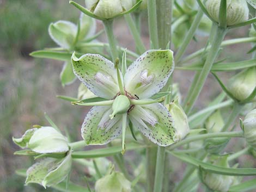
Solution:
M 40 50 L 30 53 L 32 57 L 35 58 L 46 58 L 46 59 L 56 59 L 61 61 L 67 61 L 71 59 L 72 53 L 60 52 L 60 51 L 50 51 L 50 50 Z

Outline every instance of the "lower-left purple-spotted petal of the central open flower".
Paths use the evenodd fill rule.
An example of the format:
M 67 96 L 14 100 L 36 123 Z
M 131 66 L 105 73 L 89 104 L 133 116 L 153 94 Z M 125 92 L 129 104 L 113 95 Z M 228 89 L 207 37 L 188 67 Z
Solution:
M 112 113 L 110 106 L 94 106 L 90 109 L 81 130 L 88 145 L 105 145 L 121 134 L 122 116 L 115 115 L 111 120 L 109 115 Z

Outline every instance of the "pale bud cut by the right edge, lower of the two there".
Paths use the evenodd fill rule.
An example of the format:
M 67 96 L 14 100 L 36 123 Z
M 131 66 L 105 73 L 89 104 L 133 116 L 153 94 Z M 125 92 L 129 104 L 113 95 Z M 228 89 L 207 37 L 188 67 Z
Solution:
M 245 116 L 243 133 L 247 143 L 256 150 L 256 109 L 253 109 Z

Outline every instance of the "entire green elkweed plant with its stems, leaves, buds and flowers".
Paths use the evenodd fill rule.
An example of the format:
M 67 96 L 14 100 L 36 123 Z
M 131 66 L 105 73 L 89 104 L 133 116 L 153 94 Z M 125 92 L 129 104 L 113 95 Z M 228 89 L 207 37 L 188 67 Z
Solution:
M 66 129 L 65 137 L 48 116 L 50 126 L 34 126 L 21 138 L 13 138 L 22 148 L 15 154 L 35 158 L 27 171 L 17 171 L 26 177 L 25 184 L 69 192 L 255 190 L 255 179 L 244 181 L 243 177 L 255 176 L 256 169 L 235 164 L 241 162 L 236 159 L 242 154 L 256 150 L 255 1 L 69 3 L 81 11 L 77 24 L 63 20 L 51 23 L 48 32 L 58 47 L 31 55 L 65 61 L 60 73 L 62 85 L 76 79 L 80 85 L 77 92 L 58 98 L 77 106 L 72 110 L 92 108 L 87 108 L 81 140 L 71 142 L 76 138 L 69 132 L 77 129 Z M 147 29 L 142 16 L 148 19 L 148 44 L 141 37 Z M 113 22 L 117 18 L 123 21 L 122 17 L 135 51 L 121 47 L 115 38 L 118 27 L 113 27 Z M 108 42 L 98 39 L 103 31 L 96 32 L 96 22 L 103 24 Z M 250 29 L 238 38 L 237 30 L 243 26 L 247 26 L 243 30 Z M 205 46 L 202 36 L 207 39 Z M 193 48 L 187 54 L 192 40 L 200 49 Z M 243 44 L 236 46 L 239 51 L 246 49 L 248 57 L 222 54 L 235 44 Z M 184 87 L 179 80 L 187 78 L 182 70 L 194 72 L 191 84 L 186 84 L 188 91 L 179 90 Z M 223 83 L 217 73 L 224 71 L 236 75 Z M 210 73 L 216 81 L 208 86 L 206 95 L 212 96 L 198 100 L 206 91 L 202 89 Z M 212 86 L 218 84 L 221 91 L 217 95 Z M 199 110 L 196 102 L 203 109 Z M 242 130 L 236 131 L 239 116 Z M 234 143 L 232 138 L 241 142 Z M 183 169 L 176 166 L 179 162 L 192 166 Z M 76 168 L 81 169 L 73 177 Z M 180 181 L 175 178 L 178 173 Z

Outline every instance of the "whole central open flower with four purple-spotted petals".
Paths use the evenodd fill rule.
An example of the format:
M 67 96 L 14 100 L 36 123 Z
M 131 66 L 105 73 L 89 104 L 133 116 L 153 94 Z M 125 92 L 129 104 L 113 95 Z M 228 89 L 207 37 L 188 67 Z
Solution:
M 123 133 L 124 152 L 125 130 L 130 121 L 157 145 L 168 146 L 175 142 L 173 119 L 166 107 L 159 103 L 163 98 L 150 99 L 163 88 L 173 72 L 172 51 L 145 52 L 123 72 L 124 77 L 118 62 L 114 65 L 98 54 L 77 58 L 74 53 L 72 66 L 75 75 L 90 91 L 108 100 L 74 103 L 94 106 L 82 125 L 82 137 L 88 145 L 107 144 Z

